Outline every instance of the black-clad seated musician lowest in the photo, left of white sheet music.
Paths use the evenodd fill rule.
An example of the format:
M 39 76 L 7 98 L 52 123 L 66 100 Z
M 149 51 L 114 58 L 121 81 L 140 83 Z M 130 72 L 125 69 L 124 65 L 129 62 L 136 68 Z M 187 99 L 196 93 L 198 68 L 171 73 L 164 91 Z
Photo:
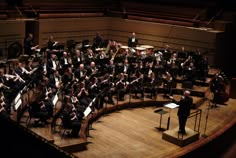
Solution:
M 82 118 L 77 115 L 76 109 L 72 103 L 67 102 L 63 106 L 64 108 L 61 115 L 63 127 L 71 128 L 72 130 L 71 133 L 69 133 L 69 136 L 77 138 L 79 137 Z

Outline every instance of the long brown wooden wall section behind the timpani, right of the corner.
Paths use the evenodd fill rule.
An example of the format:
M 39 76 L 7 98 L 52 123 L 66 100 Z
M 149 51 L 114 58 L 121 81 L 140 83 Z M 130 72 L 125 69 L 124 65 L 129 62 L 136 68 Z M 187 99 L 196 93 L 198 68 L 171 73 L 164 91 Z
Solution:
M 172 49 L 214 51 L 216 35 L 221 32 L 211 30 L 181 27 L 167 24 L 124 20 L 117 18 L 110 20 L 109 34 L 112 38 L 118 37 L 118 41 L 127 44 L 127 37 L 131 32 L 136 32 L 140 44 L 150 44 L 156 48 L 168 44 Z

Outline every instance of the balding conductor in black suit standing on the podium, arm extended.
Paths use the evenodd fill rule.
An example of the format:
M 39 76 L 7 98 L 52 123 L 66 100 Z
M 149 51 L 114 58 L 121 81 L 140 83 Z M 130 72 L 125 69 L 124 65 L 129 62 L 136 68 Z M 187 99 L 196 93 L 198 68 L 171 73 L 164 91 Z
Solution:
M 187 118 L 190 115 L 191 106 L 193 104 L 193 98 L 190 96 L 190 91 L 185 90 L 183 96 L 181 97 L 179 101 L 176 101 L 175 99 L 173 99 L 172 96 L 170 96 L 170 99 L 172 99 L 173 102 L 179 105 L 179 109 L 177 112 L 178 119 L 179 119 L 178 133 L 186 134 L 185 125 L 187 122 Z

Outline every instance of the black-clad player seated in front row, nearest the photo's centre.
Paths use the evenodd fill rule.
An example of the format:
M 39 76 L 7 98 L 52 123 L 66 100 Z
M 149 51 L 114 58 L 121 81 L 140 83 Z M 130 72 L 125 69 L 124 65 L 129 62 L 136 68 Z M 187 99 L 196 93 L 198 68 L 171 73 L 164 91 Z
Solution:
M 126 81 L 124 73 L 120 73 L 117 82 L 115 83 L 115 92 L 118 93 L 118 100 L 124 100 L 124 96 L 126 93 L 126 88 L 128 82 Z

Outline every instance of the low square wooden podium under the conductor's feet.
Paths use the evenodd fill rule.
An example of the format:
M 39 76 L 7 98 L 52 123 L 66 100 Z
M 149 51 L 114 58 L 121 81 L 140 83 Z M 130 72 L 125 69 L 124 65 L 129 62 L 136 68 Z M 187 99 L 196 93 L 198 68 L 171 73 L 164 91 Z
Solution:
M 188 127 L 185 128 L 186 134 L 184 135 L 178 133 L 178 130 L 179 128 L 177 127 L 164 131 L 162 134 L 162 139 L 181 147 L 193 143 L 199 139 L 199 132 L 196 132 Z

